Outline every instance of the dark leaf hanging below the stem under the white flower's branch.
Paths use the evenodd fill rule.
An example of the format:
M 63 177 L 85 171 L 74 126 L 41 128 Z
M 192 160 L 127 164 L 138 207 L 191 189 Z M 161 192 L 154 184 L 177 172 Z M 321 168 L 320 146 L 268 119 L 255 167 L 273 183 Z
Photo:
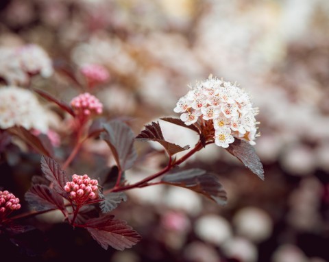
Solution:
M 174 174 L 167 174 L 162 177 L 162 182 L 177 187 L 191 189 L 205 195 L 217 204 L 226 204 L 226 191 L 215 174 L 207 173 L 202 169 L 187 169 L 176 171 Z

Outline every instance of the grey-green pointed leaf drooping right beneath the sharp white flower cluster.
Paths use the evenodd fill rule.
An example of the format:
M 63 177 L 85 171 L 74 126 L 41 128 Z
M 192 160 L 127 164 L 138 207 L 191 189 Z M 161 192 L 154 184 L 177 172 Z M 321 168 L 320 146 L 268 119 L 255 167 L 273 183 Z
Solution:
M 263 165 L 252 145 L 240 139 L 235 139 L 226 150 L 233 156 L 236 156 L 236 158 L 239 158 L 261 180 L 265 179 Z

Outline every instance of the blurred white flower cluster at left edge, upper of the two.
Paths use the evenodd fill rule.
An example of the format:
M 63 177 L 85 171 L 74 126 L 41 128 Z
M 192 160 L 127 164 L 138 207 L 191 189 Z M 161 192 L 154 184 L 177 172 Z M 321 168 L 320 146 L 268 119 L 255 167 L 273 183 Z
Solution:
M 30 75 L 48 78 L 53 73 L 51 59 L 38 45 L 0 47 L 0 77 L 8 84 L 25 85 Z

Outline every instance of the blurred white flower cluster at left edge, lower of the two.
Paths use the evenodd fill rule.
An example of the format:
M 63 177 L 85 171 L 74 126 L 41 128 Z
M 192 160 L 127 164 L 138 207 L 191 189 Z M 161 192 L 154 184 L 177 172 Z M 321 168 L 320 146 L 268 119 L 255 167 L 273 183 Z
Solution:
M 13 126 L 40 130 L 47 133 L 49 115 L 34 93 L 16 86 L 0 88 L 0 128 Z

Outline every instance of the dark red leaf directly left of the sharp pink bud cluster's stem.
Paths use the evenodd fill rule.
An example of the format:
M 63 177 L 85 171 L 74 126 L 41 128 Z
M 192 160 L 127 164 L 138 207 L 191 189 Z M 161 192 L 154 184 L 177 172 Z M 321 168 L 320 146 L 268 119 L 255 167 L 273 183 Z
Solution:
M 62 196 L 44 184 L 35 184 L 29 189 L 29 191 L 25 193 L 25 200 L 29 202 L 36 211 L 65 209 Z

